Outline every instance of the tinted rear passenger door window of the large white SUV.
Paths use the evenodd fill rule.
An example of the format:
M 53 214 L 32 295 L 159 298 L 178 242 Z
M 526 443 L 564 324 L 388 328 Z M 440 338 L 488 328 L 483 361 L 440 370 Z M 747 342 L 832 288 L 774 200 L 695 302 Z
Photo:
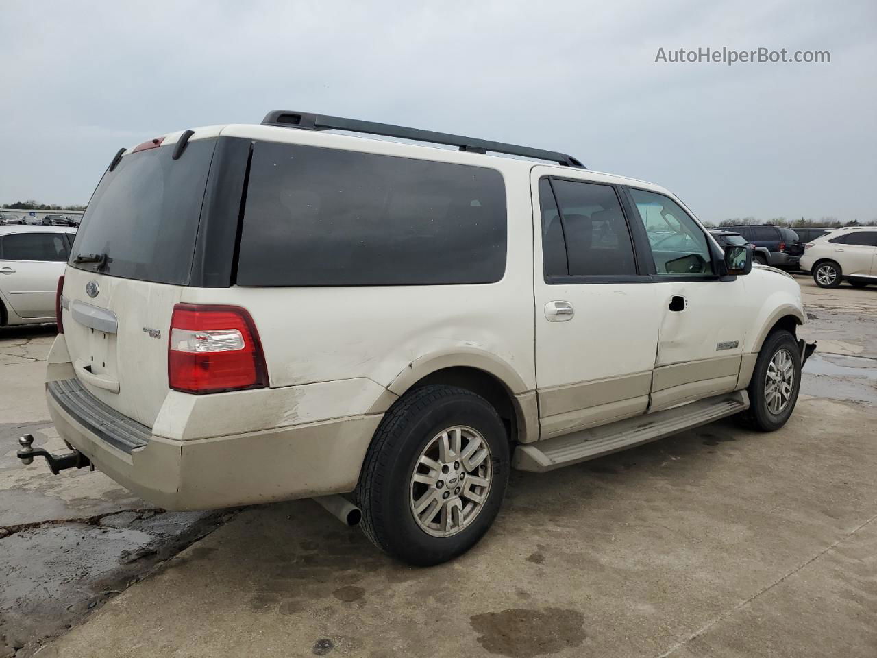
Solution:
M 545 275 L 637 274 L 631 233 L 612 186 L 543 178 L 539 203 Z

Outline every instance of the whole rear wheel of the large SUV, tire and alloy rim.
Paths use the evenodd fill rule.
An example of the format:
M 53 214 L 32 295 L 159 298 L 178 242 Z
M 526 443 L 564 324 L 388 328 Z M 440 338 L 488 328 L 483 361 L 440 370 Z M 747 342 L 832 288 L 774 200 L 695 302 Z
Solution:
M 467 456 L 469 446 L 474 452 Z M 413 390 L 390 407 L 368 448 L 353 492 L 362 510 L 360 526 L 376 547 L 398 560 L 424 567 L 453 560 L 474 547 L 496 519 L 509 468 L 509 438 L 487 400 L 453 386 Z M 476 480 L 488 485 L 471 484 Z M 419 514 L 417 504 L 425 505 Z M 448 517 L 450 528 L 442 525 Z

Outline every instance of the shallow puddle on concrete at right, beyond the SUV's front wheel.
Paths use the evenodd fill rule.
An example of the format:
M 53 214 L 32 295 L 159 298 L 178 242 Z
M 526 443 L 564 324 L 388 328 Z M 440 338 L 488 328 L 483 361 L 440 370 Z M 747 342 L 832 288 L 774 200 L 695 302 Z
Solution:
M 877 360 L 816 352 L 804 365 L 801 392 L 832 400 L 877 403 Z

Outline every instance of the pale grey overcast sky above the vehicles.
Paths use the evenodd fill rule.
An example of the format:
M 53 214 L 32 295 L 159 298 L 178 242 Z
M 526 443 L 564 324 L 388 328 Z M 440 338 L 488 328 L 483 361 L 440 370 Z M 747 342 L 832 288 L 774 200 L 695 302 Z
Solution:
M 0 204 L 85 204 L 119 147 L 271 109 L 565 151 L 706 221 L 877 219 L 877 2 L 0 0 Z M 831 63 L 656 63 L 827 50 Z

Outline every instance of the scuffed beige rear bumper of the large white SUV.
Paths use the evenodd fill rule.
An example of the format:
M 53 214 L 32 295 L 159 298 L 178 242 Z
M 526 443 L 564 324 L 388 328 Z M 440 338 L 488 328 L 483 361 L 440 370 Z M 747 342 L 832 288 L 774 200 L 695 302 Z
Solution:
M 57 383 L 55 383 L 57 384 Z M 87 394 L 86 394 L 87 395 Z M 201 510 L 352 491 L 382 414 L 198 440 L 110 440 L 108 418 L 46 388 L 61 438 L 107 476 L 168 510 Z M 130 419 L 129 419 L 130 421 Z M 141 426 L 142 427 L 142 426 Z M 129 437 L 130 438 L 130 437 Z

